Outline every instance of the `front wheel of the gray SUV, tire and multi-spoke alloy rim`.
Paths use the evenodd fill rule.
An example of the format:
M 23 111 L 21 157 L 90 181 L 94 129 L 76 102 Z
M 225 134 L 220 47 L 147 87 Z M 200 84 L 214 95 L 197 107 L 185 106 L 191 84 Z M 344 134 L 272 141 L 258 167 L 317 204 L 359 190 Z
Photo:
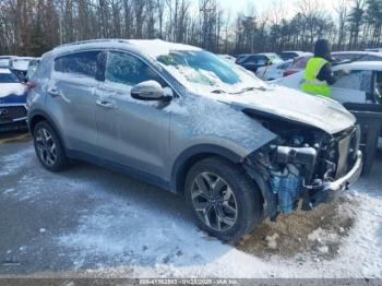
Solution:
M 198 226 L 223 241 L 235 242 L 261 223 L 258 187 L 223 158 L 206 158 L 191 167 L 186 199 Z

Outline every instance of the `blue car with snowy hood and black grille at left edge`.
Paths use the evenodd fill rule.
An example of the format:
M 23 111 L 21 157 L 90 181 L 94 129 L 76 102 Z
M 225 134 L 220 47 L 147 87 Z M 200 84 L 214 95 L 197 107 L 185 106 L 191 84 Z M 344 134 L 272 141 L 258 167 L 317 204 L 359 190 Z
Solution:
M 26 86 L 10 69 L 0 68 L 0 131 L 26 129 Z

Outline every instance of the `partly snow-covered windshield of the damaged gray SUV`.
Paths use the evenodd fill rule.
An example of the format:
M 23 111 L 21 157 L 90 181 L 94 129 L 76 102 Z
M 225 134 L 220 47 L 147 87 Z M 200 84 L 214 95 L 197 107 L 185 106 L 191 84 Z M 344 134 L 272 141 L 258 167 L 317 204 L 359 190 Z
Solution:
M 192 91 L 201 87 L 208 92 L 238 92 L 265 85 L 241 67 L 207 51 L 171 51 L 158 56 L 157 61 Z

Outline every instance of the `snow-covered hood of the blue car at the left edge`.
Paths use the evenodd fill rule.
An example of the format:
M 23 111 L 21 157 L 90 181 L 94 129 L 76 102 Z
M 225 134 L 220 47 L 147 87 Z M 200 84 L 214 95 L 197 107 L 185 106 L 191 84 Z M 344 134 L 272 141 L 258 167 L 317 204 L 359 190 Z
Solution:
M 0 105 L 25 104 L 26 91 L 26 86 L 21 83 L 0 84 Z

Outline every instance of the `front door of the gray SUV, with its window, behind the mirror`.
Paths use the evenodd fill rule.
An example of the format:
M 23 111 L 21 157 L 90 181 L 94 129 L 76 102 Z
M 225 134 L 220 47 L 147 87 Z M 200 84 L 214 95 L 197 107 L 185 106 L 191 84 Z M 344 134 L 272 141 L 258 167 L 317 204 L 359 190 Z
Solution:
M 105 83 L 97 91 L 97 144 L 104 159 L 141 174 L 164 177 L 168 162 L 170 112 L 166 104 L 131 97 L 144 81 L 166 83 L 156 71 L 132 53 L 110 51 Z

